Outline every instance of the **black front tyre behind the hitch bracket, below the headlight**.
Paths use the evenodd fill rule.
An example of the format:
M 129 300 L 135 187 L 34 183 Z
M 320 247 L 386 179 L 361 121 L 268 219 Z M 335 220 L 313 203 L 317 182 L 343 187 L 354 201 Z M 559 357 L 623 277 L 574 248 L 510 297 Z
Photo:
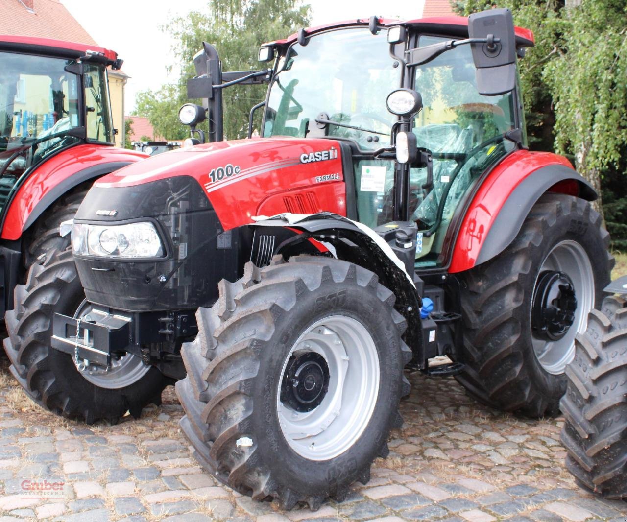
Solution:
M 51 347 L 55 313 L 73 316 L 85 300 L 71 249 L 51 251 L 44 264 L 33 264 L 14 299 L 14 310 L 5 315 L 4 349 L 11 373 L 41 407 L 88 424 L 115 424 L 126 412 L 137 418 L 145 405 L 161 404 L 162 390 L 173 381 L 157 368 L 125 387 L 104 388 L 88 382 L 71 355 Z

